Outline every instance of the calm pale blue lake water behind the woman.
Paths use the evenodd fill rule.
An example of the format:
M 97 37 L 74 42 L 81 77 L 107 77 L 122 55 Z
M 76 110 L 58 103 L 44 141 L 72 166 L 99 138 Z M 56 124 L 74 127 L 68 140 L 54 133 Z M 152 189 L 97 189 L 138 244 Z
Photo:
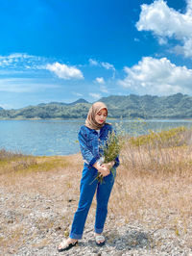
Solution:
M 120 120 L 110 120 L 115 127 Z M 78 132 L 84 120 L 0 120 L 0 149 L 39 156 L 68 155 L 80 151 Z M 192 120 L 123 120 L 131 135 L 178 126 L 192 127 Z

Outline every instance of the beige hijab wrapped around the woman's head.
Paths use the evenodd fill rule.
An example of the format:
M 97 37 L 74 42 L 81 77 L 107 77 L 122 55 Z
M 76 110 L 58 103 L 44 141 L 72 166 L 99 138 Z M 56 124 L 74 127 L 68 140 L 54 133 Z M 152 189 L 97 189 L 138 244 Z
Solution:
M 90 128 L 90 129 L 97 130 L 97 129 L 101 129 L 105 125 L 105 123 L 107 123 L 107 122 L 104 122 L 104 123 L 100 124 L 100 123 L 96 122 L 96 120 L 95 120 L 95 116 L 102 109 L 106 109 L 107 115 L 108 115 L 108 107 L 106 106 L 105 103 L 100 102 L 100 101 L 93 103 L 93 105 L 90 107 L 87 117 L 85 119 L 86 127 Z

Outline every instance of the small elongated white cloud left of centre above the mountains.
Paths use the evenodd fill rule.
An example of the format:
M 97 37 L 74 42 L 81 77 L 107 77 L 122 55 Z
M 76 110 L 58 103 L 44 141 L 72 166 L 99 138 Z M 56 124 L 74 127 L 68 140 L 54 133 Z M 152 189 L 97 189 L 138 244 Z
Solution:
M 80 69 L 75 66 L 70 66 L 66 64 L 47 64 L 46 69 L 54 72 L 58 77 L 62 79 L 83 79 L 84 75 Z

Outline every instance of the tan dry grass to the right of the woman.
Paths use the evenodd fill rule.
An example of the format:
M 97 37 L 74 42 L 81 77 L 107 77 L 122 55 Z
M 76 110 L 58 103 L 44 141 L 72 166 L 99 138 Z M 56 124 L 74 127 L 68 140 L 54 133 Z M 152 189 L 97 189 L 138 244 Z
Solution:
M 182 146 L 159 137 L 142 145 L 128 139 L 109 204 L 115 216 L 192 235 L 192 132 L 183 133 Z

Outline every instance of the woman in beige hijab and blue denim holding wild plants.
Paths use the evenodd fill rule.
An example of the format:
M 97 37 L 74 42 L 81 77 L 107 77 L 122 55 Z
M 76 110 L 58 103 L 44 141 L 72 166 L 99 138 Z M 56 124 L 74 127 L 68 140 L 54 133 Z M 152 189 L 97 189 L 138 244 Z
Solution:
M 113 187 L 116 171 L 112 174 L 110 168 L 119 166 L 119 158 L 108 164 L 102 164 L 102 146 L 108 139 L 108 132 L 112 131 L 110 123 L 106 122 L 108 108 L 103 102 L 95 102 L 89 109 L 85 124 L 81 127 L 78 134 L 81 152 L 84 159 L 84 169 L 80 184 L 80 201 L 78 210 L 75 213 L 69 238 L 63 240 L 59 251 L 68 250 L 82 239 L 84 223 L 96 192 L 97 209 L 95 216 L 95 240 L 96 244 L 105 244 L 105 237 L 102 236 L 104 224 L 108 215 L 108 199 Z M 95 179 L 100 173 L 104 180 L 102 183 Z

